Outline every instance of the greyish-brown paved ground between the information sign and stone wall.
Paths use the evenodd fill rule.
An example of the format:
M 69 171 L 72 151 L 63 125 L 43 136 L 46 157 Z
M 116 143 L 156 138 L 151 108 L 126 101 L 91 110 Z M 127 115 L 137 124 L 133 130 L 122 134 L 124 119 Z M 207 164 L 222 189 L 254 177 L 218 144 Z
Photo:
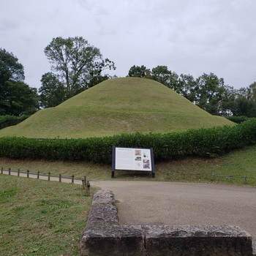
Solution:
M 154 181 L 91 184 L 113 191 L 121 225 L 238 225 L 256 240 L 256 188 Z

